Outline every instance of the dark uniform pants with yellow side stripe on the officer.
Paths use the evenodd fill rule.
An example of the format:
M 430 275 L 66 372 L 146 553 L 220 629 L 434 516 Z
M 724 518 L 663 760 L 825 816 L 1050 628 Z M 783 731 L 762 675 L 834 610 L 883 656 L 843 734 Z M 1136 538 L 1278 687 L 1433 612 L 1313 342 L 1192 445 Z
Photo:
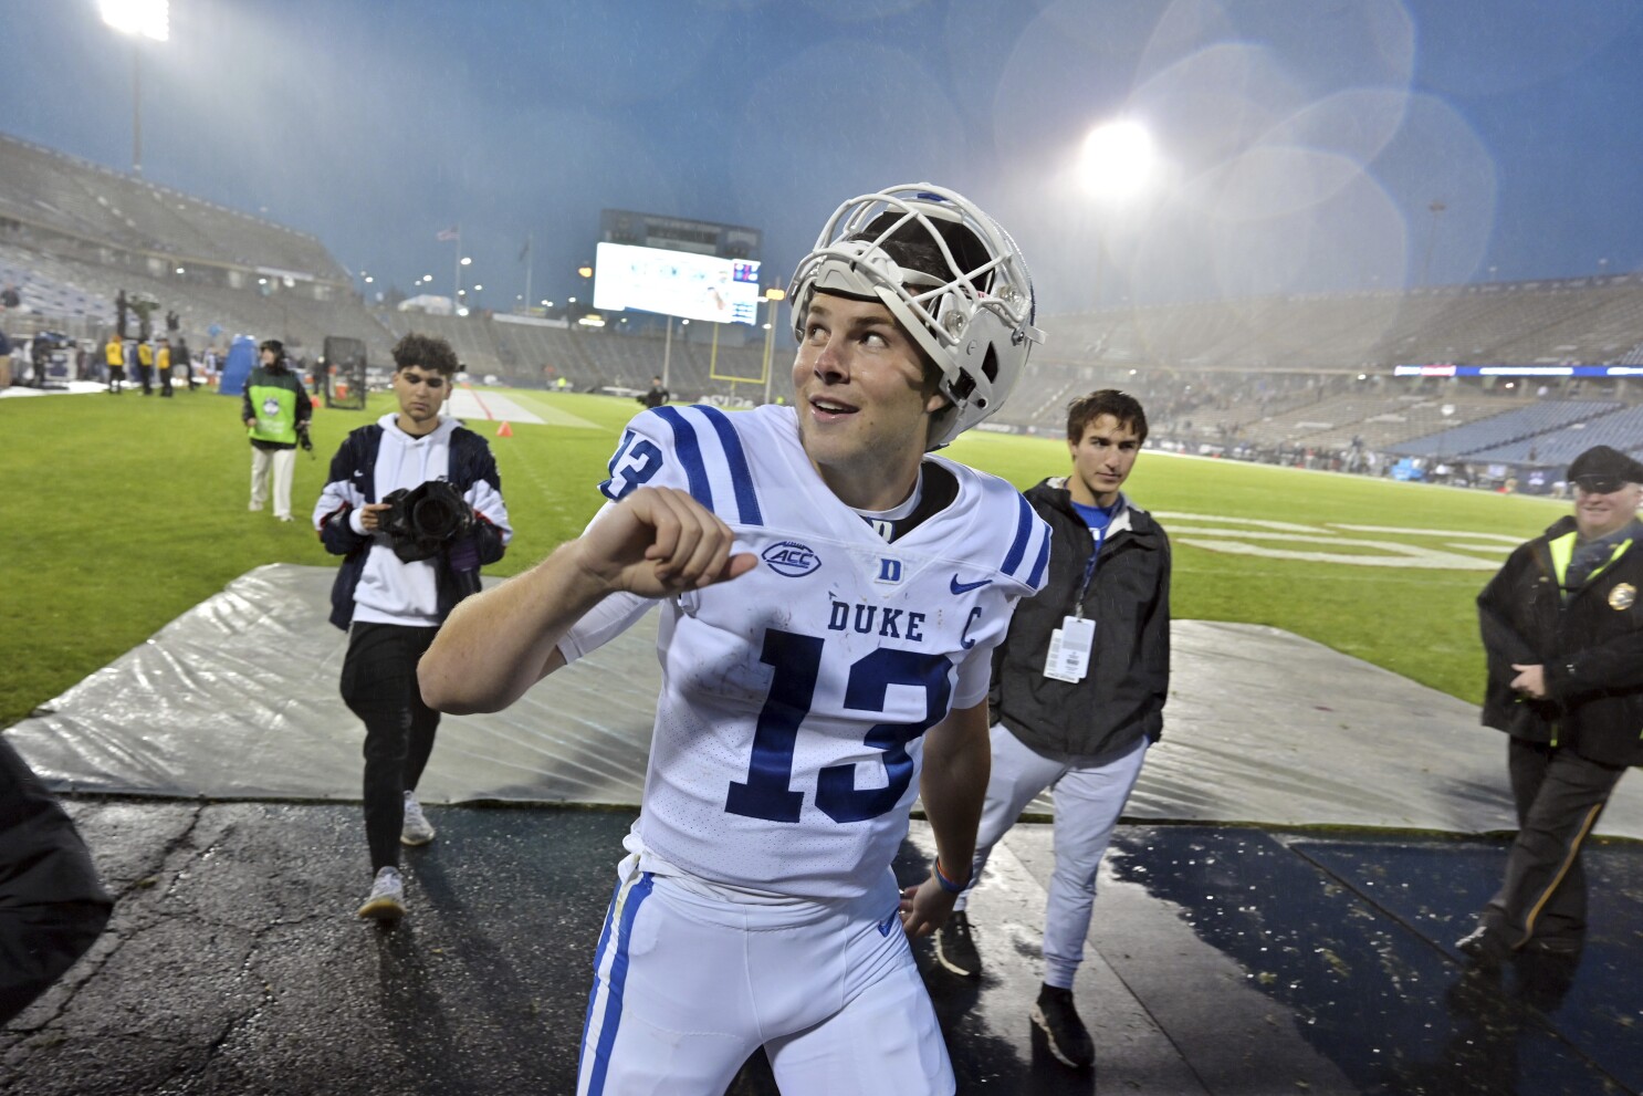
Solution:
M 1572 749 L 1508 741 L 1518 836 L 1507 854 L 1507 879 L 1484 909 L 1484 923 L 1502 930 L 1513 948 L 1531 938 L 1579 948 L 1585 938 L 1581 845 L 1625 767 L 1587 761 Z

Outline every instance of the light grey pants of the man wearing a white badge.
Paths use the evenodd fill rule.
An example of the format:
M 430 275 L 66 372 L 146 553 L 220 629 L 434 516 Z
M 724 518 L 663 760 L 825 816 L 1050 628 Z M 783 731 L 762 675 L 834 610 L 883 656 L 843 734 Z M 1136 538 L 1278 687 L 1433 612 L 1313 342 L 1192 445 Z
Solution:
M 1125 754 L 1099 766 L 1075 767 L 1033 753 L 1004 730 L 1002 723 L 992 725 L 992 776 L 987 779 L 987 804 L 976 831 L 976 859 L 969 887 L 953 909 L 964 909 L 992 846 L 1015 825 L 1027 804 L 1053 784 L 1055 873 L 1050 876 L 1050 899 L 1043 917 L 1043 981 L 1050 986 L 1071 989 L 1078 965 L 1084 961 L 1089 910 L 1096 902 L 1096 871 L 1150 744 L 1152 739 L 1142 736 Z

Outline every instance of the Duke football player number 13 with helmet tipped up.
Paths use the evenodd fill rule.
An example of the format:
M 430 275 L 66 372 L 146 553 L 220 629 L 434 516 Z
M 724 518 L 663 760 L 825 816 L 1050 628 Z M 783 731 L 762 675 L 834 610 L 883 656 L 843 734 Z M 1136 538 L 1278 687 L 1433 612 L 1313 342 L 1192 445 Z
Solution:
M 421 665 L 435 708 L 499 710 L 662 603 L 578 1093 L 718 1096 L 759 1045 L 789 1096 L 953 1091 L 907 938 L 969 881 L 989 652 L 1050 539 L 930 450 L 1009 396 L 1032 284 L 991 217 L 917 184 L 845 202 L 789 301 L 794 406 L 641 412 L 588 529 L 458 606 Z M 918 795 L 937 863 L 902 891 Z

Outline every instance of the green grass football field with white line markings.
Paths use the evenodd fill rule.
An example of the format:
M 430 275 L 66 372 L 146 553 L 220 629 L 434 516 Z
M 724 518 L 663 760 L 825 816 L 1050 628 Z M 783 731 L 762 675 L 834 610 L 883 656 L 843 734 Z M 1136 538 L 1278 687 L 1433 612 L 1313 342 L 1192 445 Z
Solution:
M 488 393 L 490 389 L 486 389 Z M 491 439 L 516 537 L 488 573 L 516 573 L 596 509 L 621 426 L 608 396 L 503 393 L 547 426 L 470 422 Z M 335 564 L 301 519 L 347 431 L 389 411 L 319 411 L 319 460 L 297 455 L 294 509 L 246 513 L 238 401 L 0 399 L 0 726 L 23 718 L 161 626 L 271 562 Z M 1017 486 L 1066 472 L 1055 439 L 973 432 L 950 455 Z M 1567 503 L 1234 462 L 1142 454 L 1130 498 L 1175 542 L 1178 619 L 1270 624 L 1464 700 L 1482 695 L 1472 600 L 1512 544 Z M 269 638 L 268 659 L 281 657 Z

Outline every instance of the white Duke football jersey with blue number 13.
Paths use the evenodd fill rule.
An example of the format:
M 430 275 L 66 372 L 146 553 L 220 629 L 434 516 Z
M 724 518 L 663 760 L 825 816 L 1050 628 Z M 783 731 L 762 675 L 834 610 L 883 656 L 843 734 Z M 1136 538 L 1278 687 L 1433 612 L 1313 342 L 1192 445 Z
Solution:
M 688 490 L 759 559 L 662 603 L 646 850 L 761 894 L 853 897 L 882 879 L 925 730 L 986 700 L 991 651 L 1050 560 L 1048 526 L 1014 486 L 925 460 L 958 496 L 887 544 L 810 465 L 792 408 L 633 419 L 600 490 Z M 649 605 L 611 600 L 560 649 L 587 654 Z

